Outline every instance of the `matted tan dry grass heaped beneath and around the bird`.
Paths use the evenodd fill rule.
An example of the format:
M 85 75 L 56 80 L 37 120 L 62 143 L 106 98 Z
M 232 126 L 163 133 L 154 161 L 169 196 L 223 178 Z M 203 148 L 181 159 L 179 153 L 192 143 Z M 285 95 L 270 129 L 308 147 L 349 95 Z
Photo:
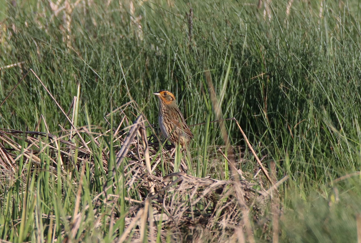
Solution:
M 126 119 L 123 119 L 123 122 L 125 123 Z M 125 217 L 126 230 L 116 239 L 117 242 L 129 238 L 134 242 L 143 242 L 145 232 L 151 241 L 157 234 L 161 234 L 163 239 L 171 234 L 173 240 L 185 239 L 193 242 L 222 241 L 232 235 L 231 239 L 236 240 L 242 237 L 243 228 L 247 230 L 247 227 L 251 227 L 249 220 L 259 223 L 266 200 L 272 191 L 266 190 L 267 183 L 262 179 L 252 182 L 239 179 L 238 177 L 245 177 L 240 170 L 231 180 L 197 178 L 185 172 L 163 176 L 158 165 L 164 161 L 168 171 L 171 172 L 174 169 L 174 157 L 169 157 L 170 150 L 161 150 L 159 153 L 158 144 L 148 141 L 144 136 L 145 133 L 142 132 L 145 130 L 146 122 L 142 116 L 139 116 L 133 124 L 123 124 L 129 129 L 114 130 L 113 142 L 121 144 L 116 147 L 116 168 L 122 164 L 124 174 L 117 174 L 117 169 L 108 170 L 111 157 L 109 149 L 100 149 L 103 161 L 95 163 L 93 158 L 99 156 L 94 155 L 95 151 L 88 147 L 90 143 L 99 146 L 103 144 L 101 140 L 104 136 L 109 136 L 109 130 L 98 134 L 83 127 L 79 130 L 64 130 L 61 136 L 56 136 L 37 131 L 1 129 L 1 186 L 9 187 L 16 182 L 21 158 L 23 158 L 21 175 L 24 181 L 29 168 L 31 173 L 48 169 L 55 176 L 60 174 L 65 177 L 70 173 L 72 166 L 77 166 L 80 173 L 84 173 L 85 166 L 89 166 L 91 171 L 94 171 L 95 166 L 102 166 L 97 170 L 104 170 L 105 178 L 102 181 L 105 186 L 103 191 L 93 195 L 93 203 L 106 204 L 106 207 L 111 208 L 106 216 L 108 219 L 105 220 L 109 227 L 112 227 L 112 222 L 120 217 L 117 206 L 119 195 L 107 194 L 110 188 L 117 187 L 118 182 L 123 180 L 127 191 L 132 191 L 133 194 L 135 192 L 140 195 L 139 198 L 142 198 L 142 200 L 124 198 L 129 207 Z M 69 138 L 76 142 L 72 142 Z M 49 161 L 47 168 L 45 161 Z M 60 170 L 60 173 L 57 170 Z M 94 176 L 96 175 L 93 174 L 92 177 Z M 106 184 L 106 177 L 108 182 L 109 178 L 111 179 L 111 183 Z M 235 180 L 235 177 L 238 179 Z M 81 188 L 83 182 L 80 180 L 74 183 Z M 86 213 L 86 209 L 87 207 L 77 215 L 69 216 L 68 220 L 73 227 L 71 232 L 74 235 L 66 235 L 64 231 L 66 239 L 75 237 L 82 223 L 81 214 Z M 104 216 L 99 215 L 102 213 L 101 210 L 98 212 L 95 207 L 93 211 L 95 218 L 99 217 L 97 223 L 101 224 L 104 220 Z M 243 217 L 244 215 L 246 217 Z M 50 216 L 43 215 L 43 217 Z M 157 225 L 160 222 L 159 229 Z

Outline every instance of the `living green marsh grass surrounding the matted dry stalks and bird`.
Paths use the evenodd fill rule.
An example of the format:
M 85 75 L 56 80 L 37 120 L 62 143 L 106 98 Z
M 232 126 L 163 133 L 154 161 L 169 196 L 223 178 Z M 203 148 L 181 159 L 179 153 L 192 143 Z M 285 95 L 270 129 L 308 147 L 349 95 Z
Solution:
M 15 6 L 5 1 L 0 10 L 0 67 L 24 63 L 0 70 L 0 100 L 31 68 L 65 112 L 73 96 L 78 97 L 74 124 L 89 130 L 94 125 L 99 129 L 93 131 L 103 133 L 116 129 L 124 116 L 131 123 L 140 113 L 157 123 L 158 100 L 152 93 L 168 89 L 189 125 L 204 122 L 191 127 L 195 139 L 188 158 L 190 174 L 228 179 L 227 162 L 217 152 L 217 146 L 224 145 L 220 127 L 210 123 L 216 115 L 205 79 L 209 70 L 223 118 L 238 120 L 258 156 L 267 155 L 265 166 L 276 162 L 278 179 L 290 177 L 279 187 L 280 242 L 355 242 L 360 175 L 335 179 L 359 172 L 361 166 L 360 3 L 322 1 L 320 17 L 319 2 L 295 1 L 287 16 L 286 1 L 275 0 L 268 20 L 256 2 L 140 1 L 133 11 L 127 1 L 80 1 L 71 5 L 68 32 L 66 10 L 55 15 L 48 1 L 17 1 Z M 190 7 L 191 40 L 186 17 Z M 134 107 L 124 107 L 106 122 L 107 114 L 129 101 Z M 0 127 L 6 129 L 57 135 L 59 125 L 71 129 L 32 73 L 0 107 L 0 116 Z M 40 122 L 38 128 L 42 116 L 46 124 Z M 226 121 L 225 126 L 232 145 L 244 148 L 235 122 Z M 152 133 L 148 128 L 148 136 Z M 121 144 L 94 141 L 91 151 L 109 149 L 108 166 L 113 168 L 114 149 Z M 91 171 L 86 164 L 84 174 L 81 167 L 68 168 L 69 174 L 53 172 L 47 168 L 49 148 L 44 149 L 41 170 L 32 173 L 31 158 L 20 156 L 14 181 L 1 185 L 0 238 L 50 242 L 62 230 L 69 232 L 71 220 L 66 219 L 74 214 L 79 190 L 79 212 L 85 205 L 90 209 L 75 239 L 112 242 L 119 237 L 129 210 L 125 195 L 134 200 L 143 195 L 126 191 L 125 178 L 117 178 L 112 193 L 119 196 L 115 207 L 120 216 L 114 224 L 118 231 L 112 231 L 105 222 L 111 211 L 106 205 L 98 205 L 96 220 L 92 213 L 98 207 L 92 200 L 108 174 Z M 101 157 L 94 160 L 101 163 Z M 162 163 L 158 167 L 164 172 Z M 255 166 L 251 153 L 238 163 L 251 174 Z M 270 215 L 268 211 L 264 218 Z M 97 220 L 100 227 L 94 226 Z M 266 224 L 265 231 L 262 224 L 252 225 L 257 242 L 272 239 L 272 223 Z

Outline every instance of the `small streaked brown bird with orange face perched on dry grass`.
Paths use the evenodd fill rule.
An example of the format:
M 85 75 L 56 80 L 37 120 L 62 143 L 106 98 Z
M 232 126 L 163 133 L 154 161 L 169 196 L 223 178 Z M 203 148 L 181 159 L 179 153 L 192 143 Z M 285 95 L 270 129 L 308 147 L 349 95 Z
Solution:
M 158 122 L 163 136 L 174 145 L 188 146 L 193 134 L 178 108 L 174 95 L 168 90 L 153 94 L 159 98 Z

